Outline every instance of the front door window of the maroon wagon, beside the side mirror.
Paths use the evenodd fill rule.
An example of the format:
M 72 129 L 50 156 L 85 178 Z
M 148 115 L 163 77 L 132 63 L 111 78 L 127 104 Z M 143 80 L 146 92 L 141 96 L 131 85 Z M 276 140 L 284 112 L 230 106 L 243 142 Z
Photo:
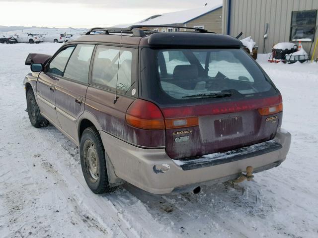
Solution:
M 50 62 L 47 72 L 63 76 L 65 65 L 68 62 L 74 48 L 75 46 L 71 46 L 60 51 L 59 54 Z

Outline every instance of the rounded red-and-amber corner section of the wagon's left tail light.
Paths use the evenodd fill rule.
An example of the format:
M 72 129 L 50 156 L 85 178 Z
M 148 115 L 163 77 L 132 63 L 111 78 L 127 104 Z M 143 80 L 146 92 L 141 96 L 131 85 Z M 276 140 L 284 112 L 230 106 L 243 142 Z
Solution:
M 142 99 L 136 99 L 129 106 L 126 112 L 126 121 L 128 124 L 141 129 L 165 129 L 164 119 L 157 105 Z

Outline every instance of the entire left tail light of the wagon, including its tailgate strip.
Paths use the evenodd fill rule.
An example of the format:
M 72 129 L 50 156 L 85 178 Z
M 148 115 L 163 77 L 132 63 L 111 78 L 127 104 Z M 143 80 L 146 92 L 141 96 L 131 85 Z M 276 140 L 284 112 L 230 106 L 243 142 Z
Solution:
M 148 130 L 191 127 L 199 124 L 197 117 L 165 119 L 159 107 L 149 101 L 136 99 L 126 112 L 128 124 Z

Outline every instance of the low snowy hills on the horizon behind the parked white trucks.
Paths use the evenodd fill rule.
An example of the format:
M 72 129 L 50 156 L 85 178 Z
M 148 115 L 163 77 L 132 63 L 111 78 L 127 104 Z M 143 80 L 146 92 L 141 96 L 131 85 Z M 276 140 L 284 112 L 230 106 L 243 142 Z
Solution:
M 0 26 L 0 32 L 4 35 L 15 35 L 23 33 L 37 33 L 37 34 L 81 34 L 86 32 L 85 28 L 56 28 L 56 27 L 24 27 L 24 26 Z

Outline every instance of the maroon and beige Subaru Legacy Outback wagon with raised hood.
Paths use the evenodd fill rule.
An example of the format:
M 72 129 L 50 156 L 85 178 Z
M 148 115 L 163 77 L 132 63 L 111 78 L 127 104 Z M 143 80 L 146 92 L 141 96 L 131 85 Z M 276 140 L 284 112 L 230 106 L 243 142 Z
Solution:
M 286 159 L 282 96 L 238 39 L 139 27 L 92 29 L 53 57 L 26 59 L 31 124 L 50 122 L 79 146 L 94 193 L 125 181 L 197 193 Z

